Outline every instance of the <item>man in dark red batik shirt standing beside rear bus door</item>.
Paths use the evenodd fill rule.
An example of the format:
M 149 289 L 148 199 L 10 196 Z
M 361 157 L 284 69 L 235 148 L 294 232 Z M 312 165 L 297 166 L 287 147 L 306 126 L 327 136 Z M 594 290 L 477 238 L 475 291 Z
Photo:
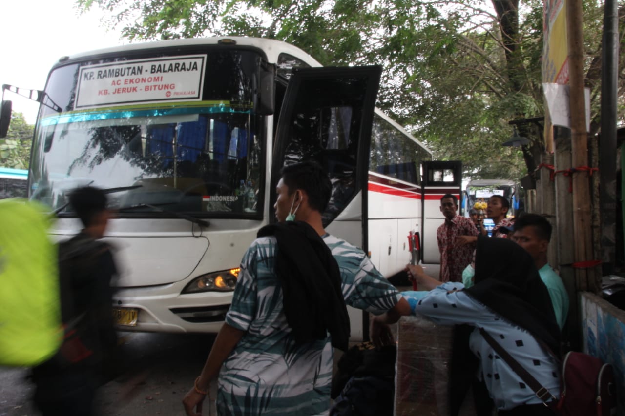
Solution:
M 457 215 L 458 200 L 452 194 L 441 198 L 441 212 L 445 222 L 436 230 L 441 252 L 441 282 L 462 282 L 462 270 L 471 263 L 477 228 L 470 218 Z M 464 239 L 464 237 L 472 237 Z

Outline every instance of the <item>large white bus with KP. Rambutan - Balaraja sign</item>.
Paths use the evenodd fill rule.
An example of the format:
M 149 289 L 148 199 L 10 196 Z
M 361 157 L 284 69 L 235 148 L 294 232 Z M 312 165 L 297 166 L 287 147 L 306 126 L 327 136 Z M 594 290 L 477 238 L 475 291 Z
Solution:
M 334 186 L 327 230 L 392 274 L 411 259 L 409 232 L 437 252 L 428 224 L 442 222 L 442 194 L 459 195 L 460 171 L 432 162 L 421 174 L 431 152 L 374 111 L 380 74 L 320 67 L 297 47 L 248 37 L 63 57 L 38 94 L 29 195 L 58 212 L 60 240 L 80 228 L 68 192 L 109 189 L 119 209 L 106 235 L 121 269 L 114 307 L 128 330 L 216 332 L 242 254 L 275 220 L 280 168 L 306 159 Z M 366 327 L 353 324 L 352 337 Z

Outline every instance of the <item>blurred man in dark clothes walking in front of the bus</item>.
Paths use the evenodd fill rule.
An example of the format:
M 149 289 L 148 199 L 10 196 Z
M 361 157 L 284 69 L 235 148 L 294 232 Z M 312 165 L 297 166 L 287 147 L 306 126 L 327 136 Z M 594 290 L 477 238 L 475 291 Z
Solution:
M 115 367 L 111 279 L 117 270 L 109 245 L 101 240 L 111 216 L 106 194 L 83 187 L 70 194 L 69 203 L 84 228 L 59 245 L 63 344 L 32 369 L 34 400 L 44 416 L 94 414 L 96 389 Z

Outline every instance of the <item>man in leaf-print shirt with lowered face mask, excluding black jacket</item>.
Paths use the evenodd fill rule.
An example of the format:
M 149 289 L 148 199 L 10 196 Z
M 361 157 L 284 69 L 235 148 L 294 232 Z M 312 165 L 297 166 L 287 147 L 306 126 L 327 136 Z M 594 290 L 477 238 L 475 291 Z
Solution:
M 284 167 L 274 205 L 279 222 L 306 222 L 336 259 L 346 304 L 386 322 L 410 313 L 410 306 L 375 269 L 361 249 L 329 235 L 321 213 L 332 186 L 321 167 L 300 163 Z M 297 345 L 282 307 L 276 277 L 274 236 L 256 239 L 241 262 L 232 305 L 194 388 L 184 397 L 187 415 L 199 415 L 204 393 L 219 373 L 217 410 L 223 415 L 327 415 L 330 406 L 331 340 Z M 372 334 L 372 337 L 375 334 Z

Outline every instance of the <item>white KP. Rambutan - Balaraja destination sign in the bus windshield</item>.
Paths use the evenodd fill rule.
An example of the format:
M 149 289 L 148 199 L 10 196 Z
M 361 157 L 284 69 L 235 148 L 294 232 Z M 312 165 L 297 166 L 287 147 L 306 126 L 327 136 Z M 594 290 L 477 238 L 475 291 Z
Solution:
M 202 99 L 206 55 L 111 62 L 80 69 L 74 109 Z

